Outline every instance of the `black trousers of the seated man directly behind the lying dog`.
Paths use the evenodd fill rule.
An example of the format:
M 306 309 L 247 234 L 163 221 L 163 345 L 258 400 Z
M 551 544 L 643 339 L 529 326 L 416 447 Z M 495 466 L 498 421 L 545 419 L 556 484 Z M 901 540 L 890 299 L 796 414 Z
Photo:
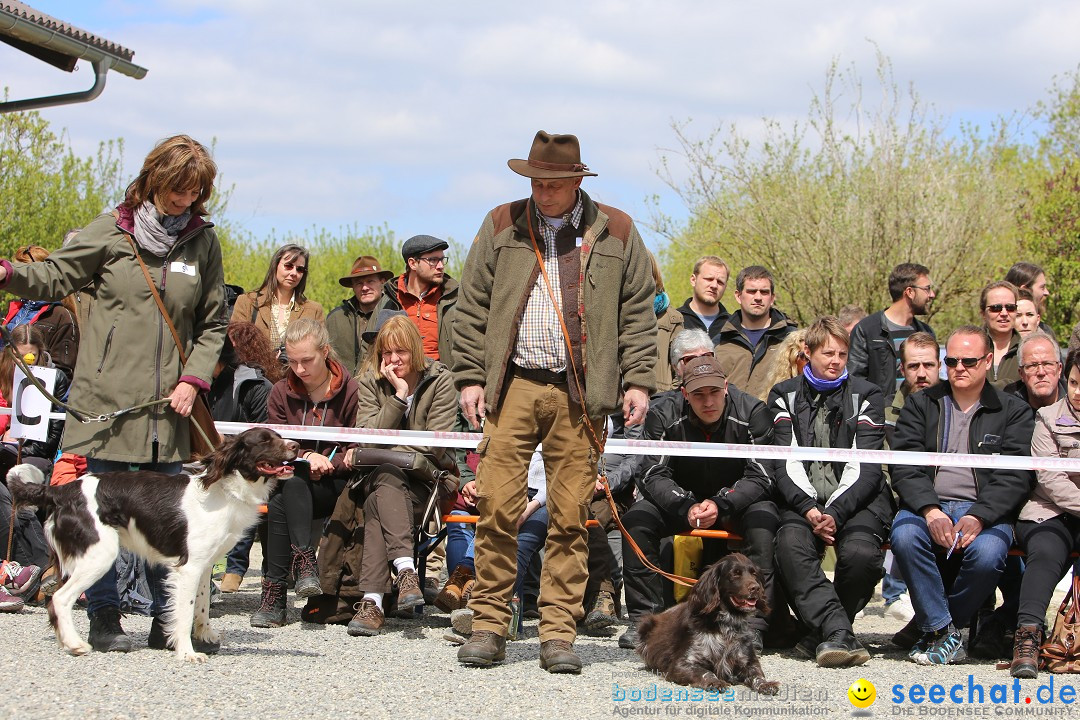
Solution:
M 675 517 L 663 512 L 648 500 L 638 500 L 622 516 L 622 524 L 649 562 L 660 565 L 660 543 L 678 532 L 690 529 L 686 516 Z M 739 517 L 720 517 L 713 526 L 742 536 L 740 542 L 729 542 L 728 548 L 743 553 L 761 571 L 761 581 L 770 607 L 774 607 L 775 589 L 772 549 L 780 514 L 775 504 L 765 500 L 747 507 Z M 626 612 L 631 622 L 651 612 L 661 612 L 664 606 L 664 587 L 660 575 L 649 570 L 624 538 L 622 541 L 623 582 L 626 593 Z M 755 629 L 768 629 L 767 617 L 754 617 Z

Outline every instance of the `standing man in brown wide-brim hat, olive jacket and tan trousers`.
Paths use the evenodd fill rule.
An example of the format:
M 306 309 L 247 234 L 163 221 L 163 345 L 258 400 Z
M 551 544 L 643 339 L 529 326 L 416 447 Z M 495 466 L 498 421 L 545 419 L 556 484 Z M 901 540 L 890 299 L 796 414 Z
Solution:
M 572 642 L 583 615 L 595 446 L 606 416 L 621 409 L 636 424 L 648 409 L 657 352 L 652 271 L 630 216 L 581 190 L 581 178 L 596 174 L 581 162 L 577 137 L 539 132 L 528 160 L 508 164 L 531 179 L 531 196 L 484 219 L 455 321 L 461 408 L 474 427 L 486 417 L 476 480 L 462 489 L 480 521 L 473 634 L 458 660 L 490 665 L 505 656 L 517 520 L 529 458 L 542 443 L 551 521 L 540 665 L 580 673 Z

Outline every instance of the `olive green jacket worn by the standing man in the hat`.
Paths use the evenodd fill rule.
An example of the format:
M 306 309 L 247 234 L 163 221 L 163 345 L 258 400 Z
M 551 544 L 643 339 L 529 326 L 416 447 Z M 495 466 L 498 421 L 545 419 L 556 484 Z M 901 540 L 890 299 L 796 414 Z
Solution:
M 584 399 L 589 415 L 597 418 L 619 408 L 626 386 L 650 394 L 656 390 L 656 288 L 648 253 L 630 216 L 594 203 L 583 191 L 581 198 Z M 529 207 L 531 203 L 518 201 L 488 213 L 469 250 L 458 294 L 454 380 L 459 390 L 483 385 L 492 411 L 508 384 L 517 327 L 540 273 L 527 223 L 534 223 L 538 242 L 540 233 Z

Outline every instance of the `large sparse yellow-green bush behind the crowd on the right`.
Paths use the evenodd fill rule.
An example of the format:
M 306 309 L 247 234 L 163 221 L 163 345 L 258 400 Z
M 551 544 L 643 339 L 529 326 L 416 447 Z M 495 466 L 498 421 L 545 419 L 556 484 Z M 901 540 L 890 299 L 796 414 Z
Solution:
M 676 181 L 665 158 L 661 174 L 691 219 L 658 218 L 671 237 L 666 274 L 688 275 L 706 253 L 732 273 L 764 264 L 779 307 L 807 324 L 851 302 L 887 305 L 892 268 L 921 262 L 939 286 L 937 328 L 974 320 L 978 289 L 1016 255 L 1011 125 L 948 133 L 914 90 L 901 92 L 880 54 L 876 90 L 880 101 L 867 104 L 855 69 L 833 63 L 808 119 L 766 119 L 758 141 L 734 125 L 705 139 L 676 125 L 688 173 Z

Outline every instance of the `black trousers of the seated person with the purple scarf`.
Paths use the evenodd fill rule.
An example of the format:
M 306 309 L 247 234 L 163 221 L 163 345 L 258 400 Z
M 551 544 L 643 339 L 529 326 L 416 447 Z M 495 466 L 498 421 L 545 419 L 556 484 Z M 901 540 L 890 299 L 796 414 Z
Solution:
M 822 637 L 851 631 L 855 613 L 870 601 L 885 574 L 881 542 L 888 529 L 868 510 L 855 513 L 837 531 L 836 574 L 829 582 L 821 569 L 825 544 L 810 524 L 792 510 L 784 510 L 781 520 L 777 568 L 795 614 Z

